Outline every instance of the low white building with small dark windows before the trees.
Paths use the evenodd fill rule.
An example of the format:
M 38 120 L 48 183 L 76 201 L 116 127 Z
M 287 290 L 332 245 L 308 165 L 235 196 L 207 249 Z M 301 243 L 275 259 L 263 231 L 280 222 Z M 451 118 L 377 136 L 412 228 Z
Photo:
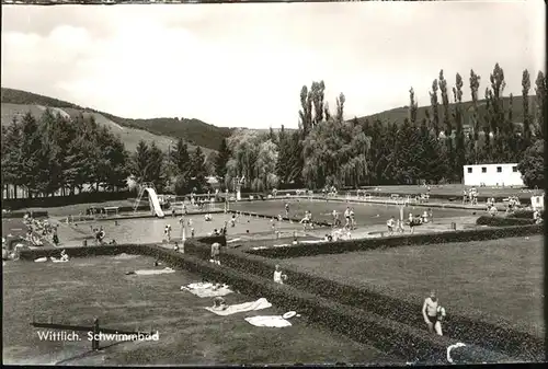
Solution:
M 525 186 L 517 163 L 464 165 L 465 186 Z

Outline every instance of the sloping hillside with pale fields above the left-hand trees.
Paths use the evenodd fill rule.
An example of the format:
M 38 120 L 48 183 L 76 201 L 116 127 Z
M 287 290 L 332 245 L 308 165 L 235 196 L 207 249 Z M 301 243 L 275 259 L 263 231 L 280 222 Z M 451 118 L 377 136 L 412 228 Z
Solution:
M 212 150 L 216 151 L 222 138 L 230 136 L 232 131 L 230 128 L 216 127 L 198 119 L 128 119 L 26 91 L 2 88 L 1 92 L 2 125 L 11 123 L 14 116 L 28 111 L 39 115 L 45 107 L 69 116 L 83 112 L 93 114 L 98 123 L 119 134 L 126 148 L 132 151 L 140 139 L 156 140 L 163 150 L 167 150 L 171 140 L 183 138 L 191 147 L 201 146 L 206 153 L 209 153 Z

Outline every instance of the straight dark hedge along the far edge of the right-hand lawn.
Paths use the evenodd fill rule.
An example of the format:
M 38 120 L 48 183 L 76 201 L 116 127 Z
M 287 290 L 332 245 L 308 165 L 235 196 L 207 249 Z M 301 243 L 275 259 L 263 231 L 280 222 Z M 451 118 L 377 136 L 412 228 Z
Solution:
M 543 224 L 459 230 L 425 234 L 403 234 L 375 239 L 342 240 L 313 245 L 300 243 L 286 247 L 249 250 L 247 252 L 272 258 L 288 258 L 324 254 L 341 254 L 354 251 L 399 247 L 407 245 L 496 240 L 538 233 L 543 233 Z

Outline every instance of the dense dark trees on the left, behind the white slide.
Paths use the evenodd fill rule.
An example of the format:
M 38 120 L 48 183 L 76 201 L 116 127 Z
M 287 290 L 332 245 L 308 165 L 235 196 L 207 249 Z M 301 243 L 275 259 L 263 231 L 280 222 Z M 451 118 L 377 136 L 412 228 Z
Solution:
M 168 155 L 153 141 L 141 140 L 132 153 L 93 115 L 71 118 L 46 109 L 36 118 L 28 112 L 2 126 L 1 136 L 2 188 L 23 188 L 30 198 L 116 192 L 127 188 L 128 178 L 178 194 L 206 186 L 207 162 L 199 147 L 189 150 L 180 139 Z

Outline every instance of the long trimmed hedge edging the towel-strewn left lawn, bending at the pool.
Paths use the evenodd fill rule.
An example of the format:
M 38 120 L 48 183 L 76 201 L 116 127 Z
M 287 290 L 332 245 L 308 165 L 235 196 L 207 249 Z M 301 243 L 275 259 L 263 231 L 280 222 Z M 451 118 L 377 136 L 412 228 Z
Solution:
M 206 246 L 202 244 L 202 246 Z M 58 249 L 32 250 L 26 252 L 26 258 L 46 256 L 47 252 L 59 253 Z M 115 245 L 67 249 L 72 256 L 96 256 L 115 255 L 118 253 L 132 253 L 158 257 L 162 262 L 182 267 L 189 272 L 201 274 L 206 280 L 222 281 L 230 285 L 235 290 L 250 296 L 261 296 L 273 304 L 287 309 L 297 310 L 306 315 L 309 321 L 319 323 L 330 330 L 338 331 L 351 338 L 374 344 L 379 349 L 403 358 L 413 358 L 429 364 L 446 362 L 446 347 L 455 344 L 455 339 L 439 337 L 427 333 L 424 327 L 418 330 L 399 324 L 392 320 L 366 312 L 364 310 L 343 305 L 327 300 L 313 293 L 297 290 L 292 286 L 281 286 L 271 279 L 246 274 L 225 265 L 204 262 L 189 254 L 181 254 L 171 250 L 155 245 Z M 56 255 L 55 253 L 50 256 Z M 224 263 L 221 261 L 221 263 Z M 465 353 L 466 360 L 470 362 L 510 362 L 505 355 L 486 350 L 477 346 L 468 346 Z

